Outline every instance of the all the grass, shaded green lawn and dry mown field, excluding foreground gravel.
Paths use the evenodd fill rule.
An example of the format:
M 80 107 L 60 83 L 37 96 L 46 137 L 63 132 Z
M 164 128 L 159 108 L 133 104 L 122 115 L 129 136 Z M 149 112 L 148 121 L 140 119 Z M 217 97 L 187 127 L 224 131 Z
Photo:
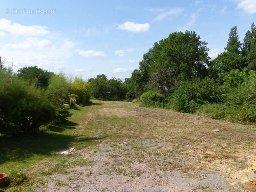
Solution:
M 26 190 L 29 182 L 45 183 L 42 176 L 58 173 L 68 180 L 72 172 L 76 177 L 84 174 L 88 181 L 101 174 L 120 174 L 132 180 L 157 170 L 188 173 L 225 166 L 235 177 L 237 171 L 248 167 L 244 158 L 255 149 L 256 133 L 251 127 L 161 108 L 140 108 L 132 102 L 94 102 L 97 104 L 91 107 L 72 109 L 73 116 L 66 124 L 49 131 L 13 138 L 14 142 L 0 136 L 1 142 L 6 142 L 0 149 L 0 170 L 24 172 Z M 65 147 L 83 150 L 56 155 Z M 96 166 L 100 171 L 94 171 Z

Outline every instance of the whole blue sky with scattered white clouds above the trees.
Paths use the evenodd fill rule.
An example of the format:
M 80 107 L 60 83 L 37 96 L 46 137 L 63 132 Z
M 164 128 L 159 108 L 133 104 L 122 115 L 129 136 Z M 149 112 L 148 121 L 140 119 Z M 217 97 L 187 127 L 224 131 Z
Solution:
M 175 31 L 195 31 L 214 59 L 237 26 L 243 43 L 256 22 L 256 0 L 1 1 L 0 56 L 13 70 L 131 76 L 143 54 Z M 11 63 L 11 64 L 10 64 Z

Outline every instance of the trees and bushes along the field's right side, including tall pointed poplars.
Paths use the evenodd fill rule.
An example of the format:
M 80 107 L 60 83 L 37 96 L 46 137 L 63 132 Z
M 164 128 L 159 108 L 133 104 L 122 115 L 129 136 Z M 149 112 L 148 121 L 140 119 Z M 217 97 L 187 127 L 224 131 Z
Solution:
M 205 115 L 233 122 L 256 121 L 256 27 L 243 43 L 230 30 L 225 51 L 211 60 L 194 31 L 155 42 L 139 69 L 125 79 L 127 95 L 146 107 Z M 137 100 L 138 101 L 138 100 Z

